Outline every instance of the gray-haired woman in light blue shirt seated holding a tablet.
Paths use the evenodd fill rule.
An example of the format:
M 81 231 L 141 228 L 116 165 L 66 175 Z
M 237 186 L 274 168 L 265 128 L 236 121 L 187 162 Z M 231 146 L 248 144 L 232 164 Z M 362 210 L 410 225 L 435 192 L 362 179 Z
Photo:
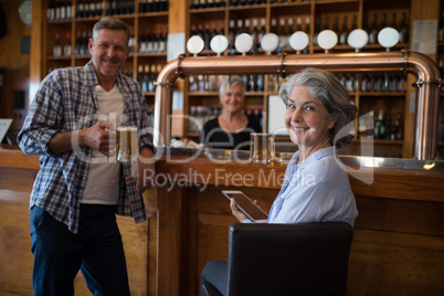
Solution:
M 336 148 L 352 142 L 343 128 L 352 123 L 357 107 L 338 78 L 326 71 L 306 68 L 281 91 L 286 109 L 285 126 L 297 146 L 287 166 L 281 192 L 273 202 L 268 223 L 341 221 L 353 225 L 358 215 L 347 172 L 338 162 Z M 337 137 L 337 135 L 347 135 Z M 251 222 L 230 203 L 240 222 Z M 201 283 L 209 282 L 225 295 L 226 262 L 207 263 Z

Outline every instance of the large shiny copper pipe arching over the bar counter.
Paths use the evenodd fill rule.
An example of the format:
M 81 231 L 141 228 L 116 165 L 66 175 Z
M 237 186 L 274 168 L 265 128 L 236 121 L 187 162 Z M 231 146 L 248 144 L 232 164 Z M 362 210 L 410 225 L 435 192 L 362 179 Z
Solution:
M 402 51 L 381 53 L 288 54 L 247 56 L 195 56 L 170 62 L 157 80 L 155 145 L 169 146 L 172 84 L 179 76 L 194 74 L 290 74 L 305 67 L 330 72 L 406 72 L 416 78 L 415 145 L 413 158 L 434 159 L 440 103 L 440 72 L 426 55 Z M 161 140 L 161 136 L 165 140 Z

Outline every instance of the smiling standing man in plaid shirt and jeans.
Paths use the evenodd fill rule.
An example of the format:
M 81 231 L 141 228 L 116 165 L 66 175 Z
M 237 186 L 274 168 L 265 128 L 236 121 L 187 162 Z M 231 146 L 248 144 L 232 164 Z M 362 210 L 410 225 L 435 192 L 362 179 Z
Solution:
M 145 97 L 120 73 L 129 38 L 125 22 L 101 19 L 91 61 L 43 80 L 18 136 L 41 165 L 30 200 L 34 295 L 74 295 L 78 269 L 94 295 L 129 295 L 116 213 L 146 220 L 141 193 L 155 176 Z M 138 130 L 136 161 L 116 159 L 120 126 Z

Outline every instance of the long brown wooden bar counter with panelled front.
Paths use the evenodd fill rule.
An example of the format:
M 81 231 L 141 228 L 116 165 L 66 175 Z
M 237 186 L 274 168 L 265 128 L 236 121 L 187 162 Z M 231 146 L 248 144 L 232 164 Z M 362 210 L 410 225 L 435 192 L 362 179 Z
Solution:
M 191 158 L 163 154 L 156 186 L 144 194 L 148 220 L 118 218 L 131 295 L 198 295 L 203 265 L 226 258 L 228 228 L 236 222 L 221 190 L 240 189 L 268 211 L 286 168 Z M 372 159 L 362 167 L 357 158 L 340 159 L 359 211 L 348 294 L 443 295 L 443 162 Z M 38 157 L 0 149 L 0 293 L 32 295 L 28 202 L 38 170 Z M 76 295 L 87 293 L 81 277 Z

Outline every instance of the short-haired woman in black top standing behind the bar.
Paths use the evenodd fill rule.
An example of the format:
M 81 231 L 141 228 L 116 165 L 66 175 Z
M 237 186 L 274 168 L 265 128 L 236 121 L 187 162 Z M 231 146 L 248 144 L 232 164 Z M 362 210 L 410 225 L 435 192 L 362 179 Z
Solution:
M 250 134 L 262 133 L 262 127 L 257 118 L 243 114 L 244 98 L 242 77 L 226 76 L 219 91 L 222 114 L 203 125 L 199 142 L 211 148 L 249 150 Z

